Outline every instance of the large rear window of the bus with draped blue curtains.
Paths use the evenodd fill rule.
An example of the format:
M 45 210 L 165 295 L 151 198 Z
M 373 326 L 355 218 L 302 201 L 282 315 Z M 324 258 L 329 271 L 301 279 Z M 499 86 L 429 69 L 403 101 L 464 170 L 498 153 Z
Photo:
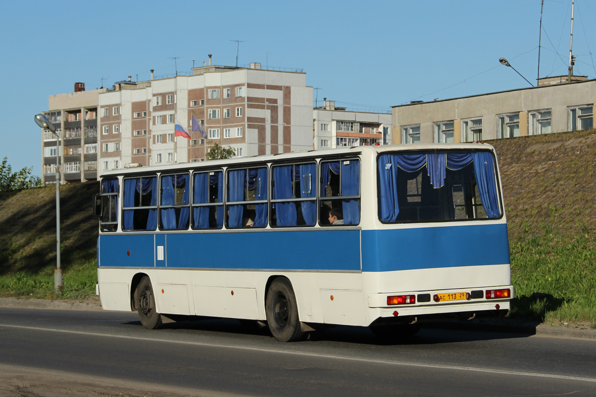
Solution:
M 501 217 L 491 152 L 401 152 L 378 158 L 385 223 Z

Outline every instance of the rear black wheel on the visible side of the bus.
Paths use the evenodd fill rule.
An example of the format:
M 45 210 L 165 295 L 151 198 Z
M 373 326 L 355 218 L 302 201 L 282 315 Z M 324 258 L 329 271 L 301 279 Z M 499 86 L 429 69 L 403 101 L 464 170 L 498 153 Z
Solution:
M 304 332 L 298 318 L 296 295 L 285 277 L 273 280 L 267 290 L 265 314 L 271 335 L 280 342 L 294 342 L 302 339 Z

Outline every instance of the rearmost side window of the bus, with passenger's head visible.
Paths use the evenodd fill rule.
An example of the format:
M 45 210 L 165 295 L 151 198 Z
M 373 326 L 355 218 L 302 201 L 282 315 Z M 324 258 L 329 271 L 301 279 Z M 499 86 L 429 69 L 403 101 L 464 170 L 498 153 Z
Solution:
M 331 226 L 330 212 L 337 218 L 333 223 L 334 226 L 359 224 L 360 161 L 321 162 L 319 196 L 319 224 L 321 226 Z

